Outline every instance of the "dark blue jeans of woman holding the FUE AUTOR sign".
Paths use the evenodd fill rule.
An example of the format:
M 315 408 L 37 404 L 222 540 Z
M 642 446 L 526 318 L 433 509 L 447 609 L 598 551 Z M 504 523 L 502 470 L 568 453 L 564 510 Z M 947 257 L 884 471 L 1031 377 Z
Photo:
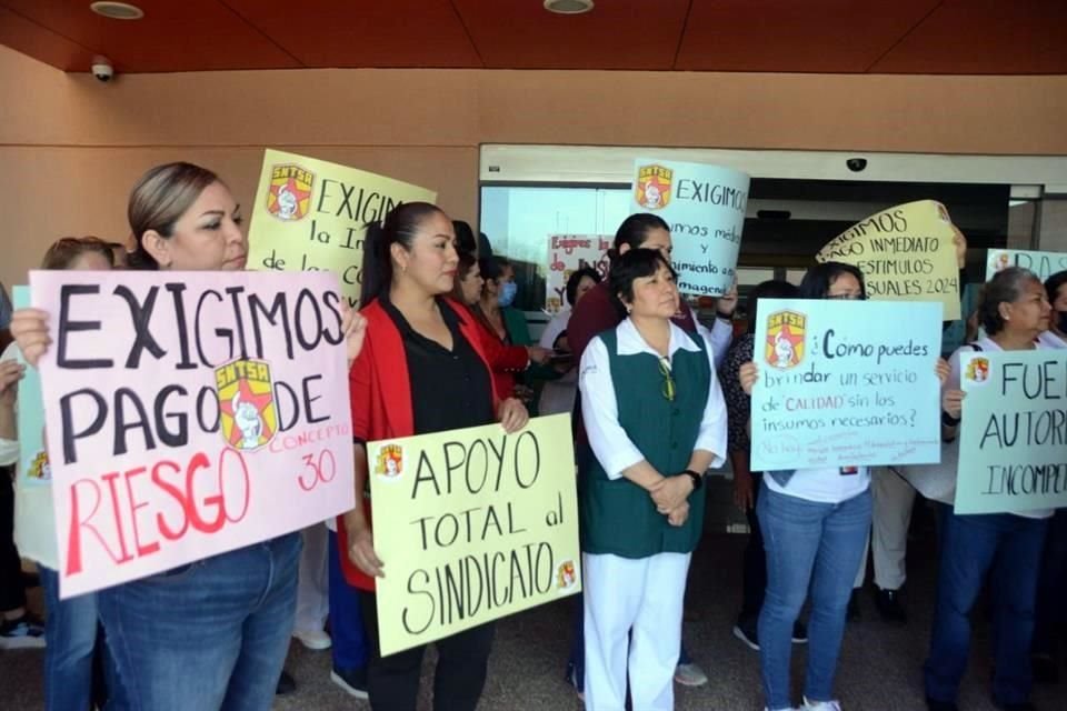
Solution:
M 1021 703 L 1030 695 L 1037 579 L 1048 520 L 1010 513 L 956 515 L 939 507 L 941 560 L 930 655 L 924 667 L 926 695 L 954 702 L 967 669 L 970 614 L 986 574 L 993 585 L 993 695 Z

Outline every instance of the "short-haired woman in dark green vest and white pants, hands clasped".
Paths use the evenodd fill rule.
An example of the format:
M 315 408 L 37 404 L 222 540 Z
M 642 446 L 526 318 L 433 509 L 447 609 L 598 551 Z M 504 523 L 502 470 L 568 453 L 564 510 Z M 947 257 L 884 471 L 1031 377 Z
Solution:
M 671 323 L 678 288 L 656 250 L 612 264 L 627 318 L 586 349 L 579 385 L 595 461 L 584 472 L 586 708 L 672 709 L 702 474 L 722 462 L 726 404 L 700 336 Z M 627 641 L 629 638 L 629 641 Z

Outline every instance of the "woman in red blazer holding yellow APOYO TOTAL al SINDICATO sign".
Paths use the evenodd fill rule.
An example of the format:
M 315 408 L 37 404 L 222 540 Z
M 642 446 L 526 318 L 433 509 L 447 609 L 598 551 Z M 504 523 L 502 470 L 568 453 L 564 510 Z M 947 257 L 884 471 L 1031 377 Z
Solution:
M 452 223 L 425 202 L 393 209 L 367 230 L 363 256 L 363 350 L 349 374 L 356 440 L 356 491 L 363 505 L 338 521 L 346 580 L 360 591 L 371 640 L 368 668 L 375 711 L 413 711 L 425 647 L 382 658 L 375 578 L 388 561 L 373 548 L 366 443 L 499 421 L 515 432 L 528 414 L 513 398 L 499 400 L 481 349 L 478 323 L 445 294 L 458 264 Z M 377 515 L 403 512 L 378 511 Z M 493 625 L 437 642 L 433 708 L 473 711 L 486 681 Z

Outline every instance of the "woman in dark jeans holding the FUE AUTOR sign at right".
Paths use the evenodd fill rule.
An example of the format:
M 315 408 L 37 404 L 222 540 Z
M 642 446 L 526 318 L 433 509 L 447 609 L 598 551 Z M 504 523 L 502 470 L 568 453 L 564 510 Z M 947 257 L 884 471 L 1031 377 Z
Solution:
M 986 337 L 960 347 L 949 359 L 950 374 L 941 395 L 946 441 L 955 440 L 965 414 L 965 393 L 959 389 L 961 354 L 1046 348 L 1038 337 L 1048 330 L 1050 314 L 1045 287 L 1026 269 L 1010 267 L 986 283 L 978 307 Z M 957 708 L 956 697 L 970 651 L 969 614 L 988 577 L 997 592 L 994 701 L 998 708 L 1011 711 L 1033 709 L 1030 641 L 1041 547 L 1053 510 L 959 514 L 953 509 L 954 498 L 951 491 L 938 504 L 940 565 L 930 653 L 925 665 L 927 704 L 931 711 Z

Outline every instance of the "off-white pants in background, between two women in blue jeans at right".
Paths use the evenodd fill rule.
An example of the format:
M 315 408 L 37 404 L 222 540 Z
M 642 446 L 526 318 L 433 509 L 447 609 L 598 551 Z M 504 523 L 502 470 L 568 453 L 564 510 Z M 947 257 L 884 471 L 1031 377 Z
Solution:
M 915 488 L 889 468 L 879 467 L 871 471 L 870 493 L 874 501 L 872 535 L 867 537 L 867 544 L 875 551 L 875 584 L 882 590 L 898 590 L 907 577 L 905 559 Z M 862 587 L 866 577 L 865 551 L 855 587 Z

